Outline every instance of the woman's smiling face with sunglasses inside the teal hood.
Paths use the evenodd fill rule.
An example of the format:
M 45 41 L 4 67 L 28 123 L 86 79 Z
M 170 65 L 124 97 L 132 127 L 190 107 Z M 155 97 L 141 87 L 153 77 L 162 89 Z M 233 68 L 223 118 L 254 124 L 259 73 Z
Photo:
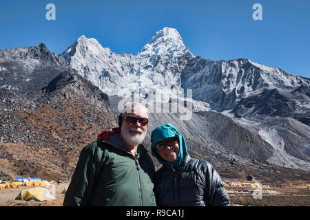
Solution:
M 165 145 L 165 148 L 162 151 L 157 151 L 155 148 L 156 153 L 158 153 L 158 155 L 166 162 L 174 162 L 174 160 L 176 160 L 176 157 L 178 157 L 178 152 L 180 151 L 178 141 L 173 142 L 173 138 L 174 137 L 169 137 L 157 143 Z

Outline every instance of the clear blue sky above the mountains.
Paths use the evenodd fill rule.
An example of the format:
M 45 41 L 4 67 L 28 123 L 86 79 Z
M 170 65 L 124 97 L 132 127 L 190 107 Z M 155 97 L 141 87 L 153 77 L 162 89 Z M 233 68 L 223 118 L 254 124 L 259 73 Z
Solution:
M 54 3 L 56 20 L 45 6 Z M 252 18 L 262 5 L 262 21 Z M 61 54 L 81 35 L 137 54 L 156 31 L 176 28 L 195 56 L 249 58 L 310 78 L 309 0 L 10 0 L 0 2 L 0 50 L 45 43 Z

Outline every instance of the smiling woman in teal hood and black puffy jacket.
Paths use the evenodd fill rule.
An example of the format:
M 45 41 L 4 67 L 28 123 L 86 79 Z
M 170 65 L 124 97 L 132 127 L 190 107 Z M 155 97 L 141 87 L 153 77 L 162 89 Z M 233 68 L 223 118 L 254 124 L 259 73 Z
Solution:
M 172 124 L 154 129 L 151 141 L 152 155 L 163 164 L 154 186 L 158 206 L 230 206 L 216 170 L 189 156 L 183 135 Z

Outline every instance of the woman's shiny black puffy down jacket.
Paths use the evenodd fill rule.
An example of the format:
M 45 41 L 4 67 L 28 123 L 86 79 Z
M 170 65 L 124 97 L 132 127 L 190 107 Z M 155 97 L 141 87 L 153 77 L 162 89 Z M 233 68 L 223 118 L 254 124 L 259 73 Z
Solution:
M 230 199 L 216 170 L 189 155 L 176 171 L 163 165 L 156 171 L 158 206 L 230 206 Z

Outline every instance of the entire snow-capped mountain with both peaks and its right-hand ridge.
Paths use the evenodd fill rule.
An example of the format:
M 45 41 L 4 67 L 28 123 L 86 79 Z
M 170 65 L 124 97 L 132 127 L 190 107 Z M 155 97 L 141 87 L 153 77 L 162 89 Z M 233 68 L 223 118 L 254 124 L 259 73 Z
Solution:
M 81 36 L 62 56 L 70 67 L 109 96 L 125 96 L 143 89 L 151 97 L 161 89 L 167 102 L 174 89 L 192 89 L 194 111 L 231 110 L 242 98 L 264 89 L 310 86 L 309 78 L 248 59 L 211 61 L 194 56 L 174 28 L 156 32 L 136 55 L 115 54 L 96 39 Z

